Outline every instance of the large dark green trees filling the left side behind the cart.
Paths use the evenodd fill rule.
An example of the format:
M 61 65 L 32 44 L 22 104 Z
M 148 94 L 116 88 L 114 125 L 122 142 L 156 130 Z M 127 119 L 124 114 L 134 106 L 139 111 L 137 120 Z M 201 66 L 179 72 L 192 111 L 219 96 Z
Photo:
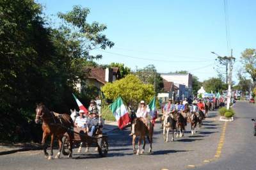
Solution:
M 75 6 L 59 14 L 64 24 L 53 29 L 42 18 L 40 4 L 0 1 L 0 140 L 35 139 L 36 130 L 42 132 L 33 123 L 36 103 L 68 112 L 77 107 L 72 93 L 83 99 L 75 85 L 86 77 L 84 66 L 100 58 L 90 50 L 114 45 L 102 35 L 106 26 L 86 23 L 87 15 L 88 10 Z

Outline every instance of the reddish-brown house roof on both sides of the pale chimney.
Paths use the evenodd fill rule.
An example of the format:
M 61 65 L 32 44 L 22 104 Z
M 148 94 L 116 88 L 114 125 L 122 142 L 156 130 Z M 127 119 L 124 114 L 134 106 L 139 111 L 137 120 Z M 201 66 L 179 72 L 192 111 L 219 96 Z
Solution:
M 106 84 L 105 81 L 105 74 L 106 69 L 102 67 L 88 67 L 90 69 L 90 74 L 88 78 L 90 79 L 96 79 L 97 81 L 101 82 L 102 84 Z M 113 75 L 117 75 L 119 72 L 118 67 L 113 67 Z

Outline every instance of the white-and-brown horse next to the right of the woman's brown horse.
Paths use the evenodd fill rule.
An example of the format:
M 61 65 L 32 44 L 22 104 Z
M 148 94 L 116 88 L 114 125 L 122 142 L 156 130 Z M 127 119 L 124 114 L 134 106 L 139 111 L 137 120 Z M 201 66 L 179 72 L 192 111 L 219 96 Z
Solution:
M 169 135 L 170 130 L 172 130 L 172 141 L 174 139 L 174 133 L 175 133 L 175 129 L 176 129 L 176 121 L 175 120 L 177 120 L 175 112 L 164 115 L 163 135 L 164 135 L 164 141 L 166 143 L 168 142 L 168 135 Z

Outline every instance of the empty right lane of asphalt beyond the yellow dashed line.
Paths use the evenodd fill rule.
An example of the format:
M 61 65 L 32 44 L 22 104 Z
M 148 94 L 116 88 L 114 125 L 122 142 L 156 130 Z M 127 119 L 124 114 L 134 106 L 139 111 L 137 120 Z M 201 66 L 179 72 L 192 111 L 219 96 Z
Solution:
M 235 121 L 227 124 L 225 143 L 217 162 L 198 169 L 256 169 L 256 137 L 253 136 L 252 118 L 256 118 L 256 106 L 237 102 Z

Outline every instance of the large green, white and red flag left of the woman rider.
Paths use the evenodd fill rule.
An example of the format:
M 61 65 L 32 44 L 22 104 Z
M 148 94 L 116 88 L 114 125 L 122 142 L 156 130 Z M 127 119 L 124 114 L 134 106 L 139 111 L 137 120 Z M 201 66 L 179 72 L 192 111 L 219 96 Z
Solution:
M 116 118 L 118 128 L 123 129 L 125 125 L 131 121 L 129 112 L 127 111 L 121 97 L 118 97 L 113 104 L 109 105 L 109 108 Z

